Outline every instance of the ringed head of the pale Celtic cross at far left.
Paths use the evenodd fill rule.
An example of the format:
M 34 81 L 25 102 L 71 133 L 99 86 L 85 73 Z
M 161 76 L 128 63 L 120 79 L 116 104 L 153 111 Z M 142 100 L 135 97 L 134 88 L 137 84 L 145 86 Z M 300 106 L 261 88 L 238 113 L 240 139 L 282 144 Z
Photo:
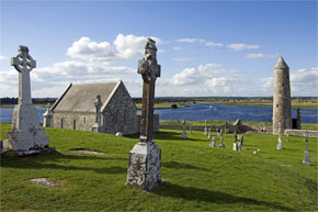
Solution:
M 26 70 L 31 71 L 36 67 L 36 62 L 29 54 L 29 48 L 26 46 L 19 46 L 18 52 L 19 54 L 16 57 L 11 58 L 11 66 L 14 66 L 19 72 Z

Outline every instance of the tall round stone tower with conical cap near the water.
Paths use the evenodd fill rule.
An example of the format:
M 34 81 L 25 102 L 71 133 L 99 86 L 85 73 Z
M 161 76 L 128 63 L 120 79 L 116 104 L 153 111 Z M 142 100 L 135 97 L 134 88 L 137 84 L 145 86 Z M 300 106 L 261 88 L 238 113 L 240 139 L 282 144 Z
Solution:
M 280 125 L 282 133 L 292 129 L 289 67 L 283 57 L 274 67 L 273 134 L 279 134 Z

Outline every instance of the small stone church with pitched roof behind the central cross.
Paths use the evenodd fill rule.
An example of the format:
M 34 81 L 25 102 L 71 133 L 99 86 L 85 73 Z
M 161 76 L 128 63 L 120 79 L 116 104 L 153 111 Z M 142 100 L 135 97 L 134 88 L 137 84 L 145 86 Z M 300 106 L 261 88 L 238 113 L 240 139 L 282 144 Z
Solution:
M 57 129 L 134 134 L 140 131 L 140 114 L 124 82 L 70 83 L 50 108 L 45 125 Z M 154 120 L 159 131 L 159 115 Z

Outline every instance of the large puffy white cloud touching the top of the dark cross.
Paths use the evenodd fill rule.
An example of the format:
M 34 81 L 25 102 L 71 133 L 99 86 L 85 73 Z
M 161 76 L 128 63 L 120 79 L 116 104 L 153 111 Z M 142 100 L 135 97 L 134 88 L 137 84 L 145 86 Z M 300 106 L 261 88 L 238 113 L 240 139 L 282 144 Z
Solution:
M 159 37 L 152 37 L 157 44 L 162 41 Z M 115 63 L 123 62 L 144 54 L 146 36 L 123 35 L 118 34 L 113 42 L 96 43 L 91 41 L 90 37 L 81 37 L 68 48 L 67 55 L 71 58 L 80 58 L 88 62 L 105 62 Z M 162 51 L 161 51 L 162 52 Z

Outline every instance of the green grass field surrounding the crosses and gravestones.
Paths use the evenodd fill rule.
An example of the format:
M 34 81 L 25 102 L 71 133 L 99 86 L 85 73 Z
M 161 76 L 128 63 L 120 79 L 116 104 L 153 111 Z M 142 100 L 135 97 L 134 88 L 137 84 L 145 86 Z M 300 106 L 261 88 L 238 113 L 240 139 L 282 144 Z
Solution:
M 1 124 L 1 140 L 10 124 Z M 305 142 L 292 137 L 276 150 L 277 136 L 246 134 L 241 153 L 211 148 L 203 132 L 162 131 L 161 176 L 152 192 L 125 185 L 128 153 L 138 135 L 115 137 L 71 130 L 46 129 L 58 153 L 1 157 L 1 211 L 317 211 L 317 140 L 309 138 L 311 166 L 302 164 Z M 217 142 L 219 142 L 217 140 Z M 84 148 L 105 155 L 71 153 Z M 258 152 L 260 149 L 260 152 Z M 257 154 L 253 155 L 253 152 Z M 59 188 L 33 185 L 49 178 Z

